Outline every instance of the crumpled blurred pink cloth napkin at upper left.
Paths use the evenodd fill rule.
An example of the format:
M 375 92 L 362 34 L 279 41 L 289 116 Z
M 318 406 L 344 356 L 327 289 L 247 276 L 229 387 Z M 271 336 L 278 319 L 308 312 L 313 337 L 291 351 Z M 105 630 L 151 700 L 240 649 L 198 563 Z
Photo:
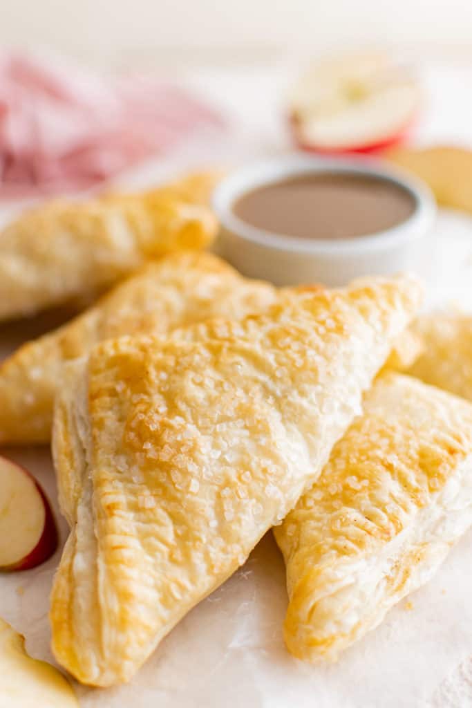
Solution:
M 0 197 L 90 187 L 208 125 L 216 112 L 159 79 L 0 56 Z

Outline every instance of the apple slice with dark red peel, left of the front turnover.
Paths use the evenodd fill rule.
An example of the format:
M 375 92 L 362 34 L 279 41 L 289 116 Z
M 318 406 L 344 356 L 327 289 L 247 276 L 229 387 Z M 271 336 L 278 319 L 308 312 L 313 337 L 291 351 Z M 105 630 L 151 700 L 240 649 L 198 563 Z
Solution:
M 45 493 L 18 464 L 0 457 L 0 571 L 23 571 L 57 548 L 57 528 Z

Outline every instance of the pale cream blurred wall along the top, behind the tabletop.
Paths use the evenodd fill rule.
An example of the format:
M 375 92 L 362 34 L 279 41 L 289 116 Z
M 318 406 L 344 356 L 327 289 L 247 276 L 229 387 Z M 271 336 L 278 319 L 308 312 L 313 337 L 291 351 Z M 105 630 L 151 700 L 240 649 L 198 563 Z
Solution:
M 467 0 L 1 0 L 2 45 L 99 67 L 191 67 L 366 43 L 472 55 Z

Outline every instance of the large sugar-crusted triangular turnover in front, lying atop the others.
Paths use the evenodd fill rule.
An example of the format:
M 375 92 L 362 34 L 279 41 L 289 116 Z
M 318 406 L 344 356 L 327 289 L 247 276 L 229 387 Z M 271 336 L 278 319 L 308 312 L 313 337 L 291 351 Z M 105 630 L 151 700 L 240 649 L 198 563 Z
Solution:
M 62 666 L 132 677 L 316 480 L 420 299 L 372 279 L 93 349 L 54 418 L 59 479 L 79 479 L 51 597 Z

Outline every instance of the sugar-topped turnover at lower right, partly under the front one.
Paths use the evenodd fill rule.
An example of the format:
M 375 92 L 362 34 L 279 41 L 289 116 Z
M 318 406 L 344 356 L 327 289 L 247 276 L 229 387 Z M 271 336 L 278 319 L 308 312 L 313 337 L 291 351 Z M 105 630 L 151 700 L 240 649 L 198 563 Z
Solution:
M 472 406 L 387 373 L 280 527 L 294 656 L 335 659 L 423 585 L 472 523 Z

